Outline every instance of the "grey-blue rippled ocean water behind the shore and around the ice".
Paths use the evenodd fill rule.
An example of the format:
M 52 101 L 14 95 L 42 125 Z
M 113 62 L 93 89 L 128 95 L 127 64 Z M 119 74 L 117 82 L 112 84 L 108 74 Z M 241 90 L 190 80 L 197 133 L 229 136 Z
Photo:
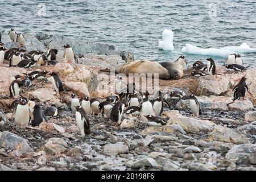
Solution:
M 0 31 L 73 36 L 126 49 L 135 59 L 172 61 L 186 43 L 201 48 L 256 48 L 256 3 L 189 0 L 3 1 Z M 44 8 L 45 7 L 45 8 Z M 45 10 L 45 11 L 44 11 Z M 162 31 L 174 31 L 174 51 L 160 51 Z M 207 56 L 185 55 L 189 62 Z M 245 65 L 256 65 L 256 53 L 241 53 Z M 213 57 L 219 65 L 225 58 Z

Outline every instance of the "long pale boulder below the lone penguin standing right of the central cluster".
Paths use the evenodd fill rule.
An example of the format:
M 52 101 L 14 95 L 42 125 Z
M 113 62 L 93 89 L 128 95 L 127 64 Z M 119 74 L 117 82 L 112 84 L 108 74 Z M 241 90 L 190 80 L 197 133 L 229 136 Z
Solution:
M 214 129 L 209 122 L 189 117 L 177 117 L 172 119 L 171 123 L 180 125 L 188 133 L 209 133 Z

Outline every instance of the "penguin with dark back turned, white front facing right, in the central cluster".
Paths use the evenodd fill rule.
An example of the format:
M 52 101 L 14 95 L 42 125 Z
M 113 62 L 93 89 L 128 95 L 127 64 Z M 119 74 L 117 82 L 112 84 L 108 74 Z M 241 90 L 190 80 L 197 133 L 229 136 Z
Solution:
M 118 124 L 121 124 L 124 110 L 125 110 L 125 102 L 122 100 L 117 101 L 117 103 L 115 103 L 115 105 L 111 110 L 110 119 L 113 122 L 117 122 Z

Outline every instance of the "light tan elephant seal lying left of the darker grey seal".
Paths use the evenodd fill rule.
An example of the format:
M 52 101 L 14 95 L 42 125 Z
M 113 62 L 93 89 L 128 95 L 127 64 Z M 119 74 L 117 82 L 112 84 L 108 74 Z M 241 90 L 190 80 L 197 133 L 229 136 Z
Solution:
M 115 72 L 125 73 L 126 75 L 129 73 L 138 73 L 140 76 L 142 73 L 145 73 L 146 76 L 148 73 L 151 73 L 152 77 L 154 77 L 154 74 L 156 73 L 159 74 L 160 79 L 170 79 L 170 71 L 162 67 L 162 65 L 160 65 L 158 62 L 148 60 L 138 60 L 132 61 L 130 63 L 119 63 L 117 64 L 117 67 L 115 67 Z

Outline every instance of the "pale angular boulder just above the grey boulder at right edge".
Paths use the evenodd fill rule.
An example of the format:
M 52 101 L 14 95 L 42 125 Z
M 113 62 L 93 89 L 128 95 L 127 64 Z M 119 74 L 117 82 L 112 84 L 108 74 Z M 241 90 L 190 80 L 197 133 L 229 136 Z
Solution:
M 234 144 L 249 143 L 249 139 L 245 135 L 224 126 L 215 126 L 213 132 L 209 134 L 208 140 L 215 140 Z

